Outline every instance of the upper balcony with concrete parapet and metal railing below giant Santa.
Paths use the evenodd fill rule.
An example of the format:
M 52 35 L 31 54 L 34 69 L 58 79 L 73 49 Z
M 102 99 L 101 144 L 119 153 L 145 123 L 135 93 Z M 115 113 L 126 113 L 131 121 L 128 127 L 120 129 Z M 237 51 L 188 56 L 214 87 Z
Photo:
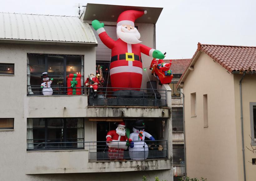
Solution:
M 28 85 L 27 90 L 29 117 L 41 114 L 40 107 L 55 110 L 61 117 L 77 117 L 77 113 L 72 115 L 76 109 L 80 109 L 80 117 L 170 117 L 171 90 L 167 84 L 160 89 L 98 88 L 96 98 L 86 87 L 52 86 L 49 96 L 44 96 L 39 86 Z M 71 102 L 76 104 L 71 106 Z

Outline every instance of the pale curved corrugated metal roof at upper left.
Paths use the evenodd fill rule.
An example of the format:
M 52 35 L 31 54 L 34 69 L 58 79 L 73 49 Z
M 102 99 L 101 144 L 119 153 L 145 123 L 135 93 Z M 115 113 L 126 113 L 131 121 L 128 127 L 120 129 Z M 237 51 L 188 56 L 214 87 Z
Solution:
M 0 39 L 97 44 L 88 23 L 78 17 L 0 12 Z

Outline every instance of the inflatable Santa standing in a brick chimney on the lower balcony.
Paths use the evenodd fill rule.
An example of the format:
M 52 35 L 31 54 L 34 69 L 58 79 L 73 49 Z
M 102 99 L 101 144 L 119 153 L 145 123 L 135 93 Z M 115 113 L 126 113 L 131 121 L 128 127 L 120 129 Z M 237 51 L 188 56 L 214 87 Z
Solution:
M 133 142 L 126 136 L 125 123 L 123 121 L 119 122 L 116 130 L 111 130 L 107 133 L 106 141 L 110 160 L 123 160 L 124 150 L 127 149 L 127 141 L 129 141 L 130 147 L 133 147 Z

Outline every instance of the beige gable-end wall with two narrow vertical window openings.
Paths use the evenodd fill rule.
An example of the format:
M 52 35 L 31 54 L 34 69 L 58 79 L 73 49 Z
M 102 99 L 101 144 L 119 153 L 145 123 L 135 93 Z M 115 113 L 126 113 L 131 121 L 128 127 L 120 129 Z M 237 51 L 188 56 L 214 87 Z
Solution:
M 233 75 L 201 53 L 184 82 L 183 93 L 187 175 L 238 181 Z M 190 115 L 190 93 L 196 93 L 196 117 Z M 208 97 L 208 127 L 204 127 L 204 94 Z

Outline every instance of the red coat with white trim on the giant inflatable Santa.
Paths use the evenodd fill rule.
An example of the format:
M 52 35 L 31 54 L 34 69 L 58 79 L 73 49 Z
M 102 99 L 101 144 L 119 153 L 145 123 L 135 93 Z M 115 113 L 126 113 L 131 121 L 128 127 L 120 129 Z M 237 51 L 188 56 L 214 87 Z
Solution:
M 140 88 L 142 81 L 141 53 L 149 55 L 150 50 L 154 49 L 140 43 L 128 44 L 120 38 L 115 41 L 107 35 L 106 31 L 99 33 L 101 41 L 112 50 L 111 57 L 117 55 L 117 60 L 110 63 L 111 86 L 117 88 Z M 119 55 L 126 53 L 138 55 L 139 60 L 120 60 Z

